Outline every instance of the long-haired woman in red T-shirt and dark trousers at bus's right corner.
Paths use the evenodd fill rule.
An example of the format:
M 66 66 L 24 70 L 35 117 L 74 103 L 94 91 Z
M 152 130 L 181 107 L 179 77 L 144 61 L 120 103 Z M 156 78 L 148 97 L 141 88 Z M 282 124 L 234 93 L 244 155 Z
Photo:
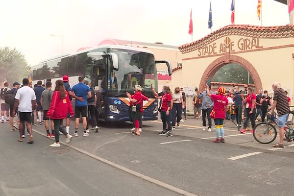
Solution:
M 162 120 L 162 131 L 158 135 L 167 135 L 167 137 L 172 137 L 172 123 L 170 111 L 172 109 L 172 92 L 170 87 L 164 86 L 162 89 L 163 95 L 155 98 L 161 98 L 160 104 L 160 117 Z M 168 126 L 168 127 L 167 127 Z

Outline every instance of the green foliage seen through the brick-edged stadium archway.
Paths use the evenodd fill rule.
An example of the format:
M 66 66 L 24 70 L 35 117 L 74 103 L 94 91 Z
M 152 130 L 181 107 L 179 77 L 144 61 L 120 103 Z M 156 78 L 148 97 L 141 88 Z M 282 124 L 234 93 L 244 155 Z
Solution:
M 245 84 L 248 83 L 248 71 L 238 64 L 229 63 L 219 69 L 211 81 Z M 251 75 L 249 76 L 249 81 L 250 84 L 254 84 Z

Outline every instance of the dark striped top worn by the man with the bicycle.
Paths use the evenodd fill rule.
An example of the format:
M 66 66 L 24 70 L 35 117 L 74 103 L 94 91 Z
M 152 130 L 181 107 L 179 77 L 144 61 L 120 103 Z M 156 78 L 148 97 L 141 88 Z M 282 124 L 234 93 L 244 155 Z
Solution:
M 276 109 L 279 116 L 289 113 L 290 107 L 288 104 L 288 98 L 283 89 L 279 88 L 274 92 L 273 100 L 277 101 Z

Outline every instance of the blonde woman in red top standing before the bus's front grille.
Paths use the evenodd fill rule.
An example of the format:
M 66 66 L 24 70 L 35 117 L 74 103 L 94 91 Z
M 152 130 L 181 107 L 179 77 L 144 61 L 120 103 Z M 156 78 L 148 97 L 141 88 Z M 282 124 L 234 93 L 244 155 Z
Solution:
M 141 121 L 142 115 L 140 111 L 142 110 L 143 112 L 143 96 L 142 96 L 142 88 L 140 85 L 135 85 L 134 88 L 134 94 L 131 95 L 129 93 L 126 93 L 126 96 L 130 99 L 130 118 L 132 122 L 135 124 L 135 131 L 134 131 L 134 136 L 139 136 L 141 135 L 139 129 L 140 129 L 140 124 L 139 121 Z

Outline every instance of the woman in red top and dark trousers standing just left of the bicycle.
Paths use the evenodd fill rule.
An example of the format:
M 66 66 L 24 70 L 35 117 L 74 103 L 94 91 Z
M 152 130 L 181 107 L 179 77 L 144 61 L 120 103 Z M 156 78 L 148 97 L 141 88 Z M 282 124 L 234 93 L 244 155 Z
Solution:
M 252 129 L 250 133 L 253 133 L 253 128 L 255 127 L 255 115 L 256 115 L 256 96 L 253 93 L 253 89 L 248 87 L 246 98 L 242 94 L 243 103 L 245 104 L 244 109 L 244 125 L 241 133 L 246 133 L 246 127 L 248 126 L 248 119 L 250 120 Z

